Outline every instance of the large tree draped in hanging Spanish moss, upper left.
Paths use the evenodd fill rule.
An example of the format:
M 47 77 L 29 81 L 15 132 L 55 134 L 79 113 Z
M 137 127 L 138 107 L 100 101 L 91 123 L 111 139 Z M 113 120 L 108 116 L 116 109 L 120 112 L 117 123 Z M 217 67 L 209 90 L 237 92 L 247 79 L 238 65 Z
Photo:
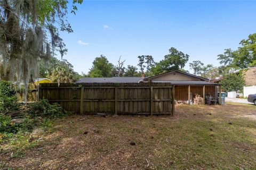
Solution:
M 73 0 L 71 13 L 76 3 L 82 0 Z M 59 30 L 73 32 L 67 14 L 67 0 L 0 1 L 0 57 L 4 70 L 12 68 L 11 81 L 23 82 L 27 89 L 30 78 L 38 78 L 39 60 L 49 60 L 55 51 L 66 54 Z

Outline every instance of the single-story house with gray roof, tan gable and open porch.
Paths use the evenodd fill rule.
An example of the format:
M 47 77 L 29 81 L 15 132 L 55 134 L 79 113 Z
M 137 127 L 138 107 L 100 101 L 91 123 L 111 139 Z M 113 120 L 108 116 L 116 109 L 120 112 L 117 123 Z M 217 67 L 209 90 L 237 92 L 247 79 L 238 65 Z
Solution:
M 196 94 L 204 97 L 210 94 L 217 97 L 219 83 L 182 71 L 170 71 L 148 78 L 112 77 L 112 78 L 82 78 L 77 83 L 171 83 L 175 86 L 175 100 L 192 100 Z

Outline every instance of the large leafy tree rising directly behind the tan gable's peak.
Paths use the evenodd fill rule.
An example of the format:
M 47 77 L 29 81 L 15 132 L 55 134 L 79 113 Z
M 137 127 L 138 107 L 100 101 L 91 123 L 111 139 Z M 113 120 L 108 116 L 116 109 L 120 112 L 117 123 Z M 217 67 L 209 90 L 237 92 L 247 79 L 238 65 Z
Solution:
M 174 47 L 169 49 L 169 53 L 170 54 L 164 56 L 164 60 L 156 63 L 153 67 L 153 73 L 155 75 L 167 71 L 183 69 L 188 62 L 189 55 L 180 52 Z

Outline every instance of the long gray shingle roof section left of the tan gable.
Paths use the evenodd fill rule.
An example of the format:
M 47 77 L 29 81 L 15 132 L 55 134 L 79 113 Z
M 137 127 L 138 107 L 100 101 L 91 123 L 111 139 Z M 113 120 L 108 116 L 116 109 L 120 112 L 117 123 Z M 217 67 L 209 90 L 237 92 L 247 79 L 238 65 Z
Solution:
M 141 77 L 82 78 L 77 83 L 138 83 Z

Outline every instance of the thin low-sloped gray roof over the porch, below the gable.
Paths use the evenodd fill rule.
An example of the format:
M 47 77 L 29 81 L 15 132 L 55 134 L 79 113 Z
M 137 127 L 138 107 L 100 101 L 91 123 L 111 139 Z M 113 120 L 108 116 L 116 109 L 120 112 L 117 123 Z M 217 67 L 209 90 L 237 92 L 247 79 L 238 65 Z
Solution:
M 155 83 L 172 83 L 174 85 L 220 85 L 219 83 L 212 83 L 207 81 L 192 81 L 192 80 L 153 80 Z

